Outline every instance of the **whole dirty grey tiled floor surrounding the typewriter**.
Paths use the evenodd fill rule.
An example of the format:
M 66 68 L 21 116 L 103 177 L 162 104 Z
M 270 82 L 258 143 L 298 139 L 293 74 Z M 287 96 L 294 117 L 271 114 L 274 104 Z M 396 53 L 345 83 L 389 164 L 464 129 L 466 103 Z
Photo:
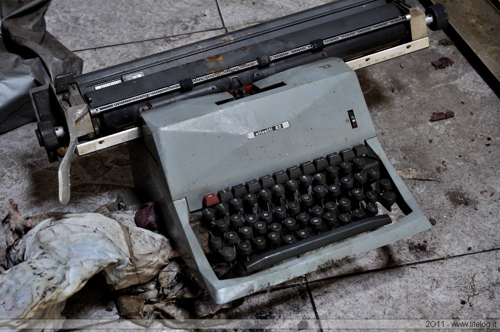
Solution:
M 45 17 L 47 29 L 84 59 L 88 72 L 324 2 L 52 0 Z M 429 37 L 428 49 L 360 69 L 357 75 L 389 160 L 398 171 L 422 173 L 405 182 L 435 225 L 248 296 L 224 317 L 500 318 L 500 99 L 446 34 L 429 31 Z M 441 56 L 454 64 L 434 70 L 430 61 Z M 433 111 L 448 110 L 454 118 L 429 122 Z M 8 212 L 9 198 L 25 215 L 88 212 L 132 186 L 122 146 L 74 158 L 73 198 L 60 207 L 57 165 L 46 162 L 34 128 L 30 123 L 0 138 L 1 215 Z M 68 301 L 66 315 L 118 318 L 115 308 L 105 310 L 107 300 L 91 287 Z M 326 329 L 320 324 L 297 328 Z

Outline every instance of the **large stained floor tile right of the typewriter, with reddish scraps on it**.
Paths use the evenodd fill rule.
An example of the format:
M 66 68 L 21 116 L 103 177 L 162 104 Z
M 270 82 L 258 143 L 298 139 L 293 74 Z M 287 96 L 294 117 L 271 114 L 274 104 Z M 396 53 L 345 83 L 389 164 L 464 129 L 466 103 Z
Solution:
M 500 159 L 500 150 L 495 148 L 500 139 L 500 117 L 493 106 L 500 101 L 481 76 L 470 70 L 470 64 L 456 48 L 440 43 L 446 38 L 442 31 L 429 33 L 428 49 L 356 73 L 377 138 L 394 168 L 416 168 L 424 174 L 423 179 L 404 182 L 435 225 L 338 261 L 311 273 L 310 279 L 500 247 L 500 179 L 489 162 Z M 442 54 L 456 61 L 444 72 L 436 71 L 427 61 Z M 464 72 L 466 81 L 462 78 Z M 472 86 L 474 93 L 466 93 Z M 428 92 L 432 90 L 441 97 L 433 97 Z M 464 92 L 449 98 L 457 90 Z M 432 112 L 441 110 L 453 110 L 455 117 L 430 122 Z

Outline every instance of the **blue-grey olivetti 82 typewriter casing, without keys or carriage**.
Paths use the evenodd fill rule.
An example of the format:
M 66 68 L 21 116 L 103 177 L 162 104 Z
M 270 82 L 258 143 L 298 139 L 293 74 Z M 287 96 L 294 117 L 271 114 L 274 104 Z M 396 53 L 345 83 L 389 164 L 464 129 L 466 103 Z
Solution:
M 224 100 L 231 95 L 219 93 L 143 113 L 144 137 L 128 143 L 136 187 L 159 203 L 175 247 L 217 303 L 430 227 L 385 157 L 356 75 L 342 60 L 326 58 L 255 85 L 277 87 L 228 102 Z M 216 277 L 190 225 L 190 214 L 202 207 L 203 195 L 358 143 L 384 165 L 403 197 L 404 217 L 251 275 Z

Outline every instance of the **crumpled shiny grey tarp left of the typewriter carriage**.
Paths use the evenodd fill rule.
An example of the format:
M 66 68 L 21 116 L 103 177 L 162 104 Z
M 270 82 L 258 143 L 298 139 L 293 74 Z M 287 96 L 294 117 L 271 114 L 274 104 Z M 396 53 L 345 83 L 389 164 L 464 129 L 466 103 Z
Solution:
M 30 88 L 81 73 L 83 61 L 45 30 L 48 3 L 0 0 L 0 133 L 34 119 Z

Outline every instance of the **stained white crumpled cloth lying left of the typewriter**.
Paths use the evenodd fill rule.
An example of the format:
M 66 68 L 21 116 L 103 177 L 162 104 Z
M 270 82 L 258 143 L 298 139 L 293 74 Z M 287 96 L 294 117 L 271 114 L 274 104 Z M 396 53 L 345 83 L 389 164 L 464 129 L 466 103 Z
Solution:
M 172 254 L 163 235 L 102 214 L 43 220 L 13 247 L 15 265 L 0 274 L 0 326 L 58 329 L 64 301 L 96 273 L 121 289 L 152 279 Z

